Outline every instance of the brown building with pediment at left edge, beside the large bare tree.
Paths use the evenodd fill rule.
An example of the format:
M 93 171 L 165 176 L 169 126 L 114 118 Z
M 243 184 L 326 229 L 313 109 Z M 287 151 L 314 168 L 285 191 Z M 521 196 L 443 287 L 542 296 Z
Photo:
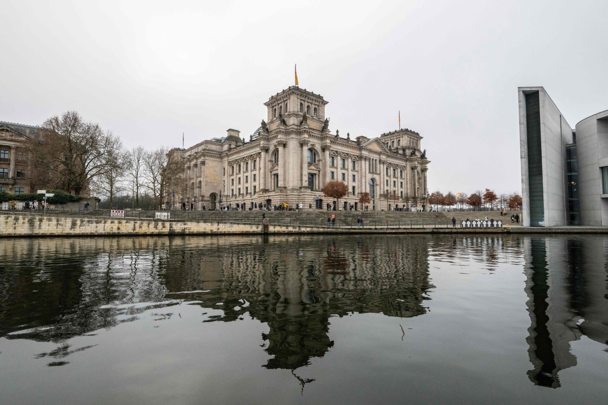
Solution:
M 27 174 L 26 143 L 40 128 L 0 121 L 0 191 L 11 194 L 32 192 Z

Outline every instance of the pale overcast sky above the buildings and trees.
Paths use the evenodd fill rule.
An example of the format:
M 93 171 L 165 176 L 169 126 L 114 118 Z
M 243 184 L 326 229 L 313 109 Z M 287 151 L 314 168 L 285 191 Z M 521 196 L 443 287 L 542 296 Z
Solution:
M 294 84 L 351 138 L 423 137 L 429 191 L 519 192 L 518 86 L 608 109 L 608 1 L 0 1 L 0 120 L 69 110 L 127 147 L 249 135 Z

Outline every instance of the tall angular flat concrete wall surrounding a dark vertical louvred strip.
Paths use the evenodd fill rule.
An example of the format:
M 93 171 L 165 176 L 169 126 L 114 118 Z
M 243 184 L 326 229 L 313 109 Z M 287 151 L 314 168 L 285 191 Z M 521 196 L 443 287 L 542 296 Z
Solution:
M 539 92 L 545 226 L 567 224 L 565 145 L 572 143 L 572 128 L 543 87 L 519 87 L 519 134 L 522 169 L 523 225 L 530 226 L 528 144 L 525 94 Z

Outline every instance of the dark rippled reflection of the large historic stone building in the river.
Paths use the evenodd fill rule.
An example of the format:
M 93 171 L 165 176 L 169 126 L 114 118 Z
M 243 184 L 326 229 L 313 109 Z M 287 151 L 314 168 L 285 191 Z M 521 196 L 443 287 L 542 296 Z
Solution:
M 263 339 L 268 340 L 266 352 L 272 358 L 264 367 L 296 369 L 333 346 L 328 336 L 331 315 L 358 312 L 407 318 L 426 313 L 423 301 L 432 288 L 429 237 L 404 238 L 398 244 L 389 239 L 361 238 L 357 245 L 338 239 L 319 246 L 315 238 L 277 237 L 268 244 L 248 243 L 222 255 L 221 286 L 196 299 L 224 311 L 212 320 L 232 321 L 249 313 L 268 324 Z M 385 248 L 379 250 L 378 245 Z M 171 256 L 169 261 L 182 262 L 188 269 L 185 279 L 167 283 L 170 291 L 184 290 L 192 279 L 217 279 L 218 263 L 208 264 L 197 256 Z M 196 285 L 211 289 L 210 284 Z

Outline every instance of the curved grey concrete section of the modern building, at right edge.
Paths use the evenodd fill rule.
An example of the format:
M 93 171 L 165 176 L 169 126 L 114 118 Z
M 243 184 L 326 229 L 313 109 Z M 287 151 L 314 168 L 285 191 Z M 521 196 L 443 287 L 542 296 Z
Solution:
M 608 111 L 576 124 L 581 225 L 608 225 L 608 195 L 602 197 L 601 169 L 608 166 Z

